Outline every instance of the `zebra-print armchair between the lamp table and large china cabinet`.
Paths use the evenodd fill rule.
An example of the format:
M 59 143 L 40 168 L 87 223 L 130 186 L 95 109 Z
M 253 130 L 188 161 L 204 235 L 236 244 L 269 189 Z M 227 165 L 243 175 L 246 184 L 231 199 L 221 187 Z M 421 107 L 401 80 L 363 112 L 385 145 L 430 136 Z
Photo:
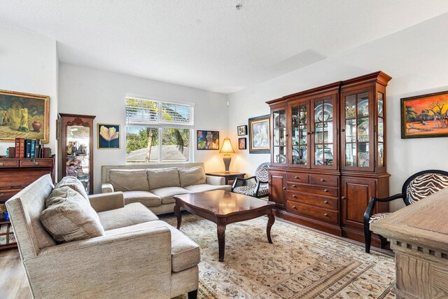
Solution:
M 248 177 L 246 179 L 236 179 L 232 186 L 232 192 L 244 194 L 252 197 L 265 197 L 267 196 L 267 180 L 269 176 L 270 163 L 262 163 L 255 170 L 255 176 Z M 255 185 L 247 185 L 248 180 L 255 180 Z

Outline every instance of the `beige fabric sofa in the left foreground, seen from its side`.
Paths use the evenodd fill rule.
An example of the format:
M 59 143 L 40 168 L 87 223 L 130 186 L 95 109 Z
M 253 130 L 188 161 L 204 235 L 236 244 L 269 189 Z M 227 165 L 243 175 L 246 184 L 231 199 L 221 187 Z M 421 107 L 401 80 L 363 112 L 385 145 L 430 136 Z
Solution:
M 53 188 L 48 174 L 6 202 L 34 298 L 195 298 L 200 249 L 186 235 L 116 192 L 88 197 L 104 235 L 57 244 L 39 220 Z

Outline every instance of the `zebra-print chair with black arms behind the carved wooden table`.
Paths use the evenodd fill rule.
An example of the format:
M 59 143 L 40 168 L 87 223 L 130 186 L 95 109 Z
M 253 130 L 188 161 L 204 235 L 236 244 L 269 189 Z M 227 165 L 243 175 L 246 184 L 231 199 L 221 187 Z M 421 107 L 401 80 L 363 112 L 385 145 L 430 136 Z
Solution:
M 365 252 L 370 252 L 370 242 L 372 241 L 370 224 L 386 217 L 388 214 L 391 214 L 373 214 L 376 202 L 391 202 L 392 200 L 398 200 L 398 198 L 401 198 L 408 206 L 409 204 L 423 200 L 423 198 L 428 197 L 443 188 L 448 188 L 448 172 L 430 169 L 423 170 L 423 172 L 417 172 L 416 174 L 410 176 L 409 179 L 407 179 L 403 184 L 401 193 L 399 194 L 386 198 L 370 197 L 370 202 L 364 213 Z

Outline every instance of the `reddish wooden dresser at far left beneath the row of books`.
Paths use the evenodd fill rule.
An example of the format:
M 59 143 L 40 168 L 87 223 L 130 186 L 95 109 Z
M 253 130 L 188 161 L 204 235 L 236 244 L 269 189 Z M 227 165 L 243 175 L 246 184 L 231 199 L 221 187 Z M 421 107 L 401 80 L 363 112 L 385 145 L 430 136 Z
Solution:
M 52 158 L 38 159 L 0 158 L 0 204 L 4 204 L 10 197 L 45 174 L 51 174 L 52 181 L 55 181 L 54 155 Z M 10 222 L 0 219 L 0 225 L 8 223 Z M 15 243 L 0 245 L 0 250 L 15 246 Z

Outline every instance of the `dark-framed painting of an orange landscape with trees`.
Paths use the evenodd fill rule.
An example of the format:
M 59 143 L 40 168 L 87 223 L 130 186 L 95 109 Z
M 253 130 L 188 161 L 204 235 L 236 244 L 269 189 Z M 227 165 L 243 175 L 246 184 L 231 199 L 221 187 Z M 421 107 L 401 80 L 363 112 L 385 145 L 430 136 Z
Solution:
M 448 91 L 401 99 L 401 138 L 448 137 Z

